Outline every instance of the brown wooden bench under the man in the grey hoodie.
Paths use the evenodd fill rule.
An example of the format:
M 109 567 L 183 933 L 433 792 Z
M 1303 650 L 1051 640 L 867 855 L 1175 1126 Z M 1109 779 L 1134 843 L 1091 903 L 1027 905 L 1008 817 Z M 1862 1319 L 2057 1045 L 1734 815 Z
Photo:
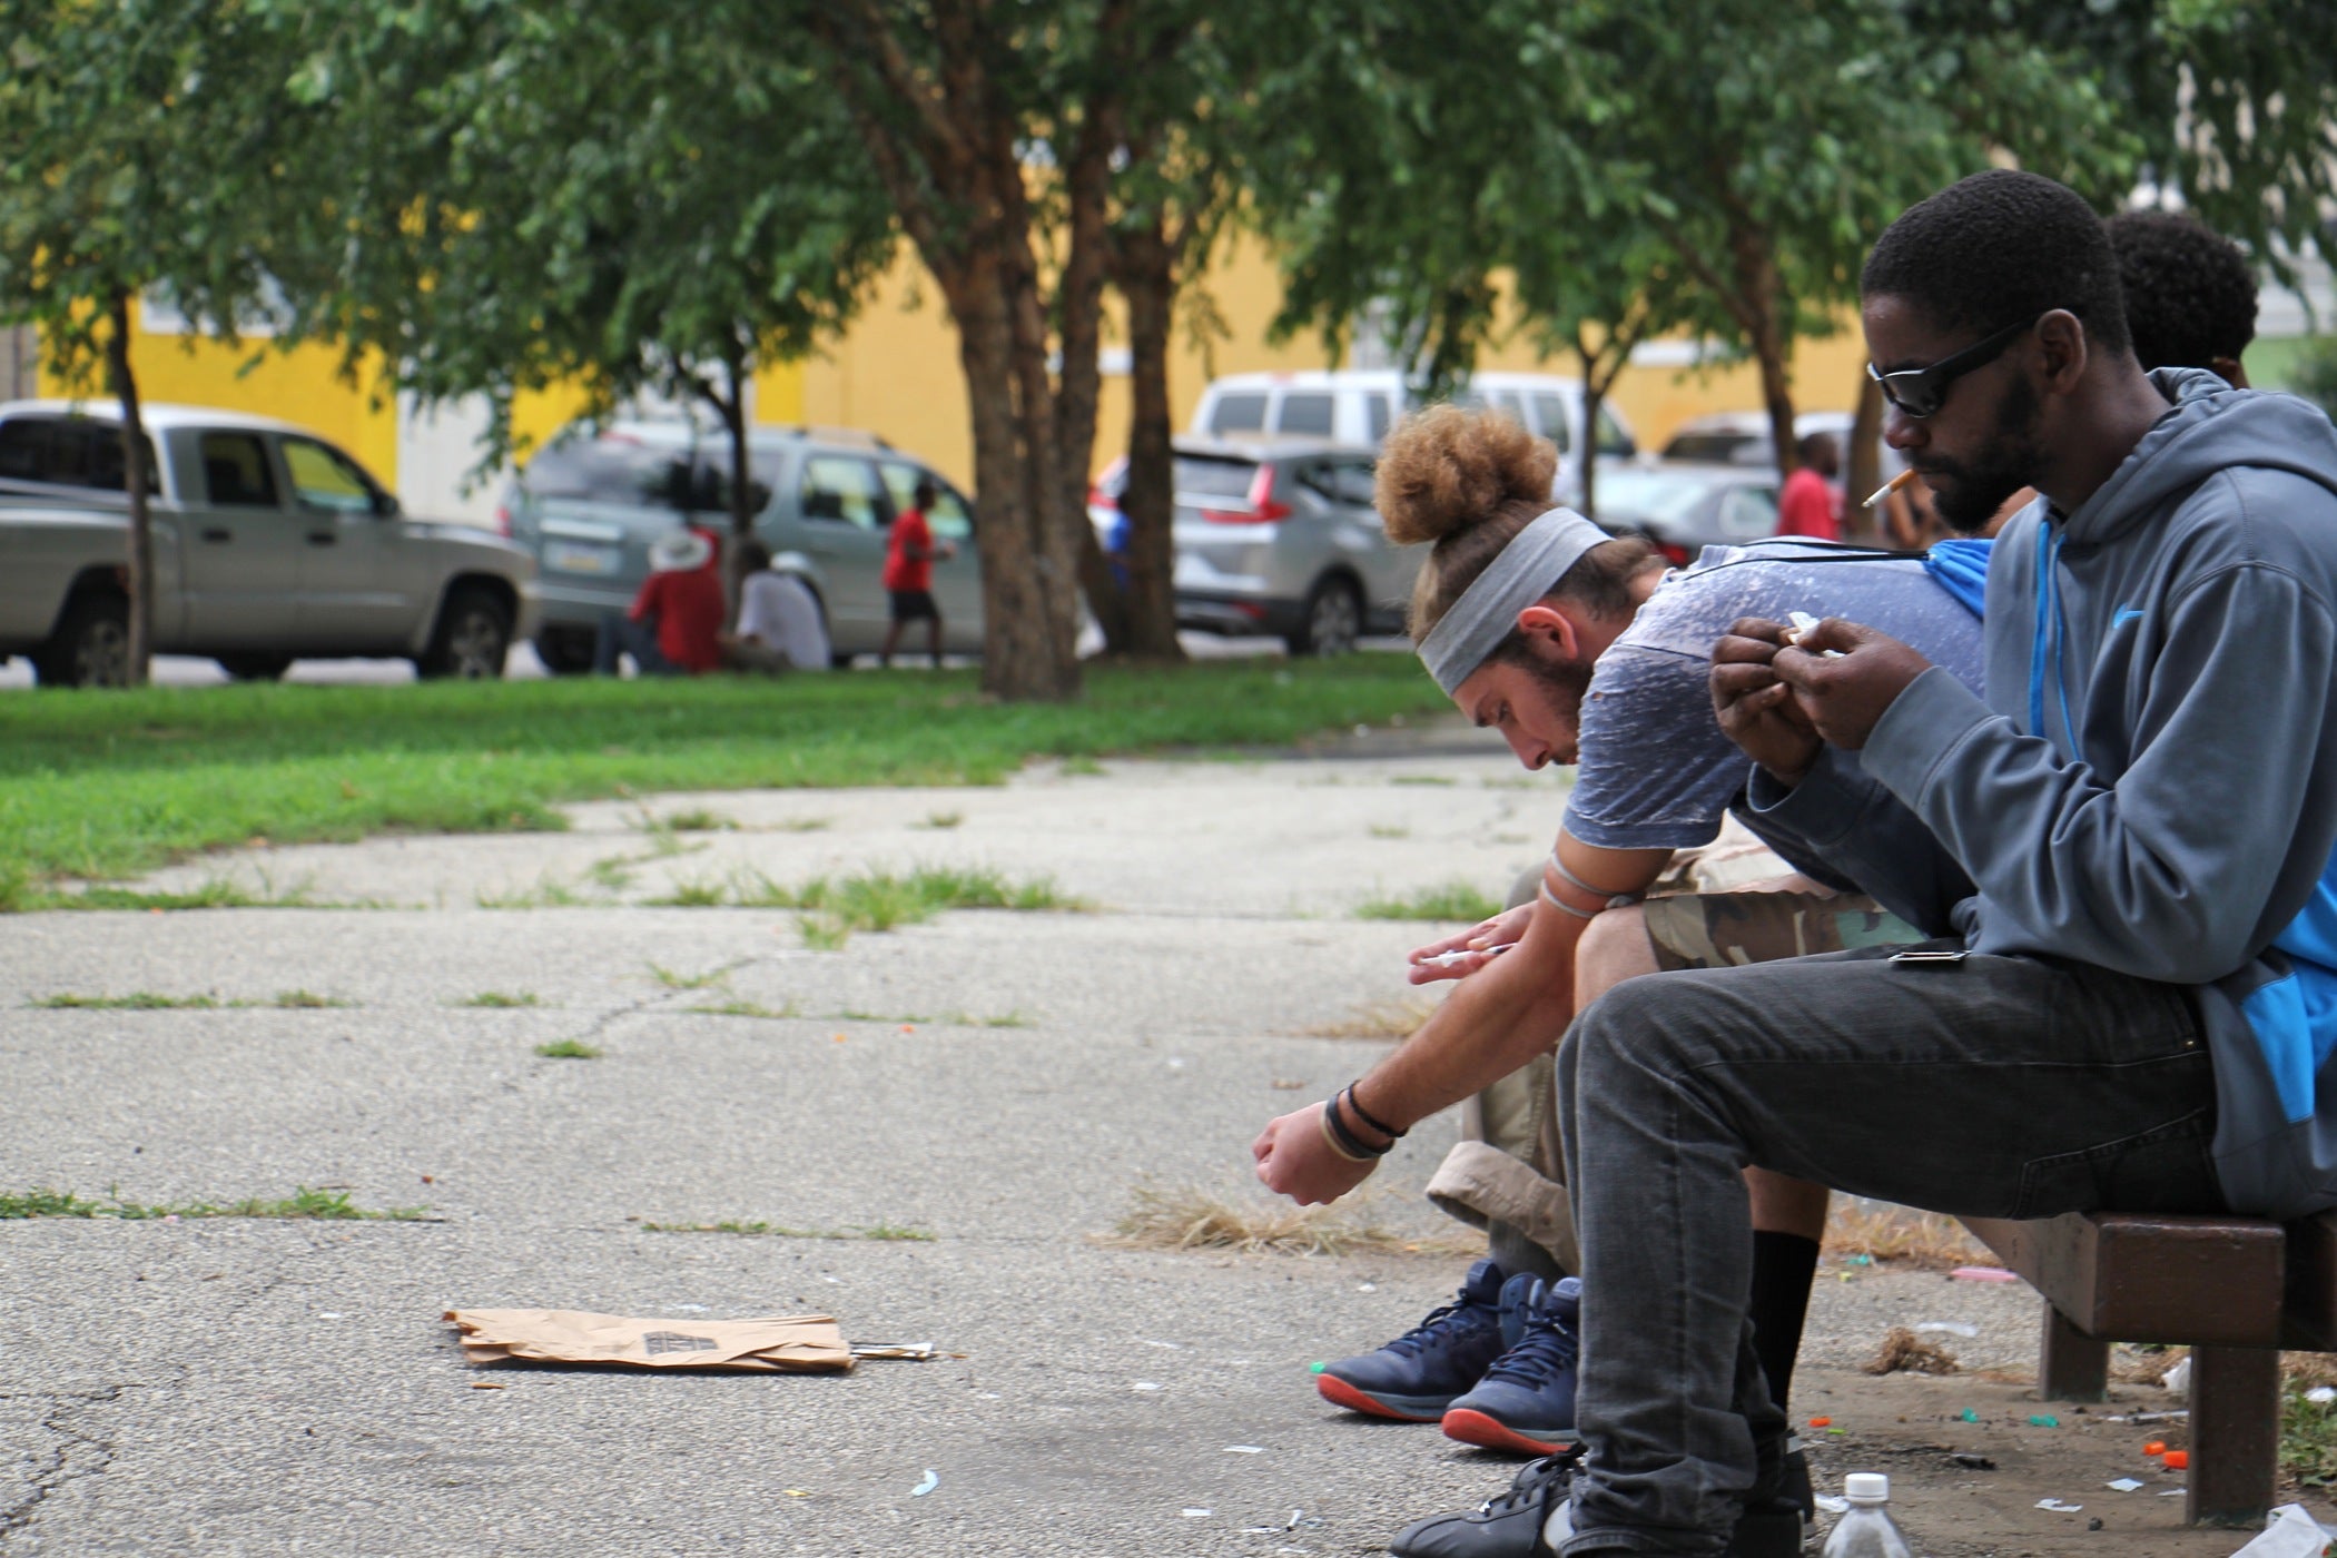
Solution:
M 2281 1226 L 2246 1217 L 2075 1212 L 1963 1219 L 2045 1294 L 2038 1394 L 2108 1397 L 2110 1343 L 2187 1343 L 2192 1523 L 2258 1523 L 2281 1446 L 2281 1348 L 2337 1352 L 2337 1215 Z

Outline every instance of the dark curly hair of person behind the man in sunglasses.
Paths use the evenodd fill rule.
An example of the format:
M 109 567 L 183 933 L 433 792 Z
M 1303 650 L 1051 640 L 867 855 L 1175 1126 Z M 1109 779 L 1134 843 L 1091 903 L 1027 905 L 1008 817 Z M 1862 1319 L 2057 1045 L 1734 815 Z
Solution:
M 2127 210 L 2103 229 L 2145 367 L 2234 362 L 2255 341 L 2255 273 L 2237 243 L 2176 210 Z

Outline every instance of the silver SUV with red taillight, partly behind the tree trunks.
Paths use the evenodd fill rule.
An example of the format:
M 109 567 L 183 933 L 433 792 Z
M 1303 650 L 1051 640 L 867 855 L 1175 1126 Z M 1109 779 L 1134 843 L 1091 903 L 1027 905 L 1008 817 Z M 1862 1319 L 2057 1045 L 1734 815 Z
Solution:
M 1395 547 L 1372 507 L 1374 453 L 1327 439 L 1176 441 L 1180 628 L 1281 638 L 1292 654 L 1346 654 L 1405 626 L 1426 547 Z M 1126 462 L 1089 493 L 1098 535 L 1117 521 Z

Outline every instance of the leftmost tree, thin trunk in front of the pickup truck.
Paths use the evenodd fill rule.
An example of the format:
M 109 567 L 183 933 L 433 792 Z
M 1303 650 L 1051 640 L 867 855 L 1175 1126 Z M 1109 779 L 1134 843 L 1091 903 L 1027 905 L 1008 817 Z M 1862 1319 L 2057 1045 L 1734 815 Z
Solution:
M 299 28 L 278 21 L 238 0 L 0 0 L 0 322 L 37 325 L 56 376 L 122 402 L 133 684 L 152 656 L 154 474 L 131 306 L 161 290 L 220 339 L 255 313 L 297 336 L 276 280 L 330 238 L 330 117 L 285 89 Z

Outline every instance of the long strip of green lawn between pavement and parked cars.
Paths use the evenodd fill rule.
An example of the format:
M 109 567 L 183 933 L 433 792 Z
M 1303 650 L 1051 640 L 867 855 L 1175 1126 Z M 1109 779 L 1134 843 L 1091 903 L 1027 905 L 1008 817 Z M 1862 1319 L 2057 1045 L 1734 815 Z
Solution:
M 285 902 L 63 890 L 252 836 L 561 829 L 568 801 L 664 790 L 996 785 L 1033 759 L 1285 745 L 1442 703 L 1398 654 L 1094 666 L 1059 705 L 989 703 L 972 670 L 9 694 L 0 911 Z

